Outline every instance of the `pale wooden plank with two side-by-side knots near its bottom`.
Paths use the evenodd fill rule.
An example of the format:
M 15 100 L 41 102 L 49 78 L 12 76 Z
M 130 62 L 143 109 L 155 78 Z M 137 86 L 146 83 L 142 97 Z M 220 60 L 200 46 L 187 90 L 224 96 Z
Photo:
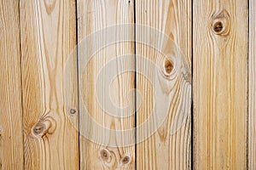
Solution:
M 134 29 L 116 26 L 134 22 L 133 5 L 132 0 L 78 1 L 81 169 L 135 169 L 134 72 L 121 72 L 134 71 Z M 122 42 L 125 37 L 131 42 Z M 101 49 L 105 42 L 108 47 Z

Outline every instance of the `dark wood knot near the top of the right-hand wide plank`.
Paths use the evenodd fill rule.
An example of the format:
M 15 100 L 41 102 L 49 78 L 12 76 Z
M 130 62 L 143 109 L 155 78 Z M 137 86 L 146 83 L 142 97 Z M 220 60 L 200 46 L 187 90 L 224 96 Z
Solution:
M 230 32 L 230 14 L 222 10 L 212 15 L 212 32 L 219 36 L 227 36 Z

